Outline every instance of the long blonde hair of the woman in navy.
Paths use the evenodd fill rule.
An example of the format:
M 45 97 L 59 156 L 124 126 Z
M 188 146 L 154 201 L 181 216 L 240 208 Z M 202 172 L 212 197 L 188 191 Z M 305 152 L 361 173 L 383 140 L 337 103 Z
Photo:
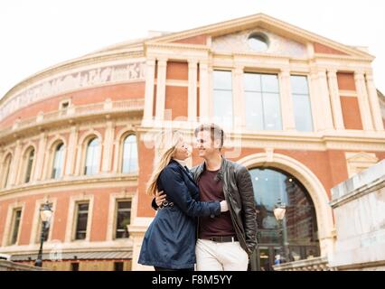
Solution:
M 161 154 L 161 156 L 159 158 L 159 162 L 155 166 L 155 170 L 152 173 L 150 180 L 147 183 L 147 194 L 155 196 L 155 192 L 157 191 L 156 182 L 159 178 L 159 175 L 167 166 L 167 164 L 170 163 L 176 152 L 176 145 L 182 139 L 183 134 L 178 130 L 162 133 L 160 135 L 160 140 L 158 140 L 160 143 L 157 143 L 159 144 L 158 153 Z

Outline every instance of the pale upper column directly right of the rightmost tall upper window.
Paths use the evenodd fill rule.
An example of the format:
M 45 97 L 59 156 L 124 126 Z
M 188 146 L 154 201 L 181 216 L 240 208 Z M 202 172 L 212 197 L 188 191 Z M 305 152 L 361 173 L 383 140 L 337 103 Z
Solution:
M 330 105 L 329 89 L 327 87 L 326 70 L 318 70 L 318 88 L 319 88 L 319 101 L 318 104 L 321 108 L 321 116 L 319 119 L 324 120 L 324 129 L 333 130 L 333 116 L 332 108 Z

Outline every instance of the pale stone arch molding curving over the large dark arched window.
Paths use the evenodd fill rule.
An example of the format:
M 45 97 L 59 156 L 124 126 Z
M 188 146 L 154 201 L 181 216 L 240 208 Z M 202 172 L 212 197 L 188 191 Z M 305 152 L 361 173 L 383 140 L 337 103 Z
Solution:
M 320 239 L 321 256 L 327 256 L 333 250 L 333 214 L 329 206 L 329 198 L 323 184 L 305 164 L 296 161 L 284 154 L 260 153 L 250 154 L 239 161 L 248 169 L 260 165 L 268 165 L 292 174 L 301 182 L 309 192 L 315 204 L 315 214 L 318 225 L 318 237 Z

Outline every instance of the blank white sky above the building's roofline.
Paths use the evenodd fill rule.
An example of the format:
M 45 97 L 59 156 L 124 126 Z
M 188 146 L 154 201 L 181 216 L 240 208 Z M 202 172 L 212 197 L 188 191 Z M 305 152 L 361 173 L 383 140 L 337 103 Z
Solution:
M 178 32 L 258 13 L 368 46 L 385 92 L 383 0 L 1 0 L 0 98 L 35 72 L 149 30 Z

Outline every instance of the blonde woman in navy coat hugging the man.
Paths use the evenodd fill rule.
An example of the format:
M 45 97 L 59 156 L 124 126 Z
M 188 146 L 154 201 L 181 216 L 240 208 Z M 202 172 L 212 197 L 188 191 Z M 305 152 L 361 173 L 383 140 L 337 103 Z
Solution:
M 156 271 L 192 271 L 196 241 L 194 217 L 219 216 L 221 210 L 228 210 L 227 203 L 225 200 L 198 201 L 198 186 L 185 164 L 191 153 L 189 145 L 178 131 L 173 132 L 169 140 L 170 144 L 162 145 L 165 152 L 147 188 L 147 193 L 153 196 L 156 191 L 164 191 L 167 200 L 146 231 L 138 263 L 154 266 Z

